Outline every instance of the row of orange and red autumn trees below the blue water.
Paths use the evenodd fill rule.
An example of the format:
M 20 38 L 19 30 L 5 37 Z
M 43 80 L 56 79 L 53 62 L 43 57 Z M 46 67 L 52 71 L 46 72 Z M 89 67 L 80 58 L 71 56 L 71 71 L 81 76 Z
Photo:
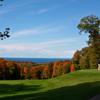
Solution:
M 71 61 L 34 64 L 0 59 L 0 80 L 48 79 L 74 70 Z

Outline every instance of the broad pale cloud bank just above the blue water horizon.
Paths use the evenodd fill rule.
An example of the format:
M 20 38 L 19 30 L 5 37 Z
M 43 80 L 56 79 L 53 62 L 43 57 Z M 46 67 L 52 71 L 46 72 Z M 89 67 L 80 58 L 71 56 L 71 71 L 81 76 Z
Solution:
M 71 57 L 74 50 L 69 49 L 70 44 L 77 41 L 77 38 L 51 40 L 33 44 L 6 44 L 0 45 L 0 54 L 11 54 L 31 57 Z M 65 48 L 62 48 L 64 46 Z M 59 48 L 59 49 L 58 49 Z

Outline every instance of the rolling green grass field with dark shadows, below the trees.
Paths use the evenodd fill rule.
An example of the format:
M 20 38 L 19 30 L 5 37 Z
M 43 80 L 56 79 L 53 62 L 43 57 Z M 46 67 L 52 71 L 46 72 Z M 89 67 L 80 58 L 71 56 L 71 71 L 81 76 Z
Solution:
M 99 93 L 97 70 L 80 70 L 47 80 L 0 81 L 0 100 L 88 100 Z

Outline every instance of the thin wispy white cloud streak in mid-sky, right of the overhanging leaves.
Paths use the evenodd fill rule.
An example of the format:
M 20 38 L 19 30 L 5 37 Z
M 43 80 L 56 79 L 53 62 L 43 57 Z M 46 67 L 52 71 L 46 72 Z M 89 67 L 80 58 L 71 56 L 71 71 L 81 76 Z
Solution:
M 36 28 L 31 28 L 31 29 L 23 29 L 17 32 L 13 32 L 14 37 L 20 37 L 20 36 L 29 36 L 29 35 L 39 35 L 39 34 L 44 34 L 44 33 L 49 33 L 49 32 L 59 32 L 63 30 L 63 26 L 42 26 L 42 27 L 36 27 Z

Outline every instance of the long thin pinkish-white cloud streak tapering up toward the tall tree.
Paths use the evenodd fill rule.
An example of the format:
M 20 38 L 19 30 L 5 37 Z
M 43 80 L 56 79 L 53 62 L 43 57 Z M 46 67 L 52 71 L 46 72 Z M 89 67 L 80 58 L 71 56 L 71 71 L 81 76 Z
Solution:
M 10 50 L 36 50 L 41 48 L 48 48 L 52 46 L 61 46 L 63 44 L 69 44 L 71 42 L 76 41 L 77 38 L 73 39 L 62 39 L 62 40 L 51 40 L 39 43 L 19 43 L 19 44 L 7 44 L 7 45 L 0 45 L 0 48 L 3 49 L 10 49 Z

